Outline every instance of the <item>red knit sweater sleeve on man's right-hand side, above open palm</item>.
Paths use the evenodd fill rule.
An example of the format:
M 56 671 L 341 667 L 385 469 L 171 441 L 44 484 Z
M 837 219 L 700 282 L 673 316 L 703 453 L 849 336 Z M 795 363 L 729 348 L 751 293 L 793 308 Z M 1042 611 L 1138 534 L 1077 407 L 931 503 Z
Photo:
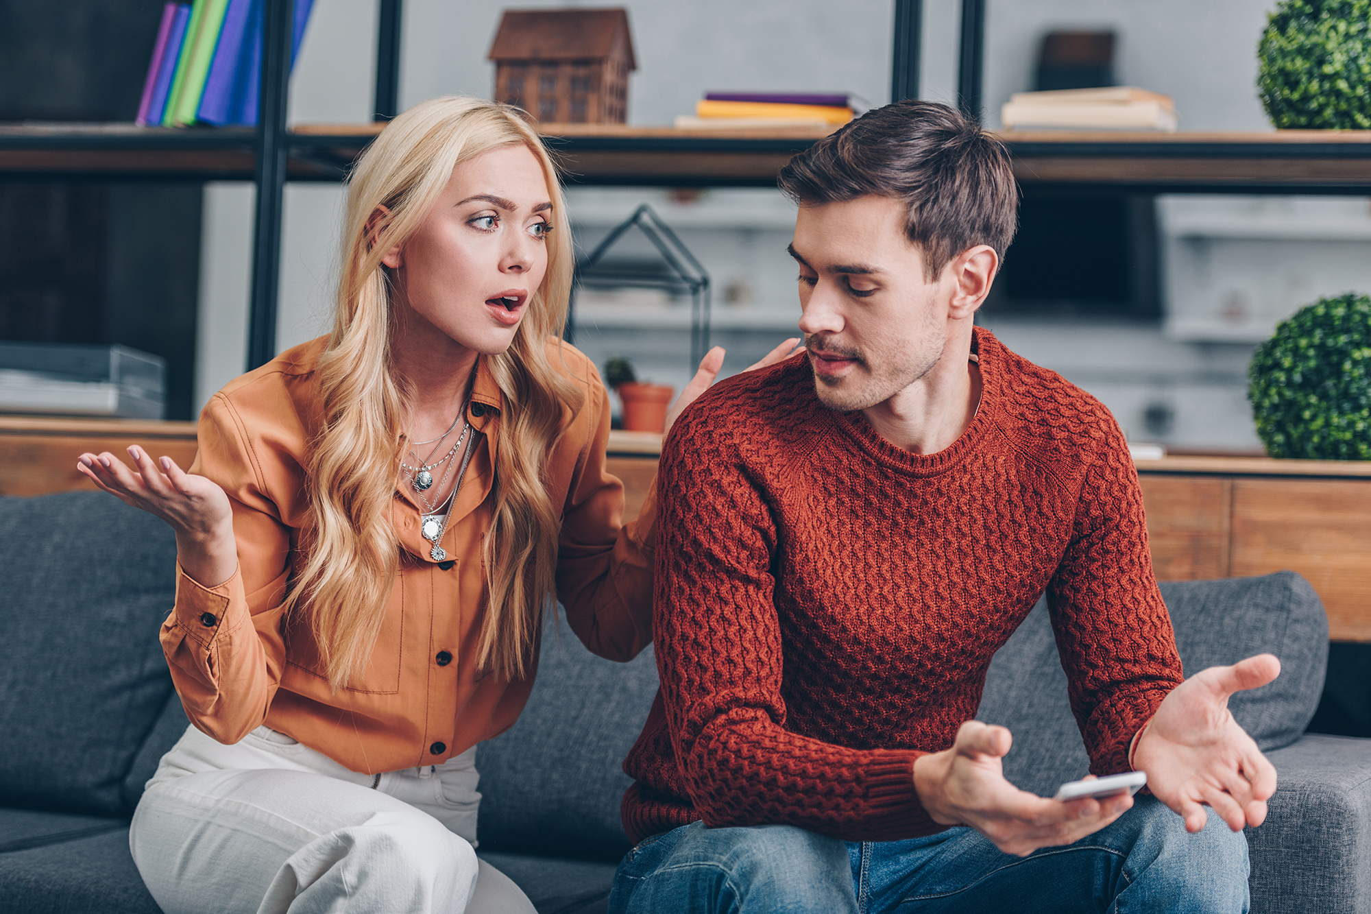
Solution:
M 1152 572 L 1138 473 L 1112 420 L 1082 480 L 1047 605 L 1090 771 L 1127 771 L 1132 737 L 1185 677 Z

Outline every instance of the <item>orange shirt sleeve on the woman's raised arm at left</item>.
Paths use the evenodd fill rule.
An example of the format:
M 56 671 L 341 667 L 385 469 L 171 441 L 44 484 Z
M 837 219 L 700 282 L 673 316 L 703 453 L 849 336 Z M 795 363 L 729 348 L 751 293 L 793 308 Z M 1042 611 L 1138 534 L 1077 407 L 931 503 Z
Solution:
M 175 607 L 162 651 L 186 716 L 232 745 L 260 726 L 281 682 L 281 601 L 291 530 L 276 516 L 232 405 L 215 394 L 200 414 L 191 472 L 229 495 L 239 567 L 223 582 L 197 582 L 177 565 Z

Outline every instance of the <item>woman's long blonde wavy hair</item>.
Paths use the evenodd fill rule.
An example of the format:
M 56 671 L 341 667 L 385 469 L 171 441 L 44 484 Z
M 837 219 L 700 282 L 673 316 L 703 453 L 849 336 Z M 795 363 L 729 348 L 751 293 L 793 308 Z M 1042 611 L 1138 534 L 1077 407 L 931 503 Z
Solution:
M 313 516 L 287 597 L 292 618 L 310 626 L 335 689 L 366 667 L 400 561 L 391 502 L 410 391 L 391 351 L 395 290 L 381 257 L 414 235 L 454 167 L 498 147 L 522 144 L 537 158 L 551 218 L 566 225 L 557 169 L 521 115 L 477 99 L 430 99 L 391 121 L 348 180 L 337 310 L 318 364 L 324 423 L 304 467 Z M 383 243 L 376 243 L 378 235 Z M 514 342 L 499 355 L 481 357 L 505 405 L 488 497 L 494 522 L 483 543 L 488 601 L 477 666 L 509 678 L 524 675 L 554 593 L 561 512 L 542 468 L 584 398 L 548 358 L 548 340 L 561 336 L 566 320 L 569 232 L 550 232 L 547 254 L 547 274 Z

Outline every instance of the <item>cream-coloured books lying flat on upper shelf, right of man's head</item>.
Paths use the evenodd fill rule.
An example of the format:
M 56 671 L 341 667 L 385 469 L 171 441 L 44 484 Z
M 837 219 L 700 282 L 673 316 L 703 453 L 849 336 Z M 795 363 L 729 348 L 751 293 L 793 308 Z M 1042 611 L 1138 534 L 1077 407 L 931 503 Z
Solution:
M 1165 130 L 1176 129 L 1169 95 L 1112 86 L 1016 92 L 999 110 L 1006 130 Z

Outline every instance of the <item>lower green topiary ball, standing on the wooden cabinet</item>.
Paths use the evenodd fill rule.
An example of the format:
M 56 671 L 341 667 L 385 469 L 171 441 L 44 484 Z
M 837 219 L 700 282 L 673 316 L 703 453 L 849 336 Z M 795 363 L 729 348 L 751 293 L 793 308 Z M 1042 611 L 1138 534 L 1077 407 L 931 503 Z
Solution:
M 1371 460 L 1371 298 L 1322 298 L 1282 321 L 1248 366 L 1272 457 Z

